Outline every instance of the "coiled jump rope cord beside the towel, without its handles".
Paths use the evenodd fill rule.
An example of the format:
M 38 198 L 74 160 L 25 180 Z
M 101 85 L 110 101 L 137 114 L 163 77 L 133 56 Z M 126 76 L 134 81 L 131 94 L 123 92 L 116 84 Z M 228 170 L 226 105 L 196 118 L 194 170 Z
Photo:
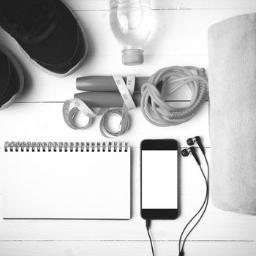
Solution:
M 197 72 L 195 75 L 194 72 Z M 162 89 L 157 84 L 162 81 Z M 173 92 L 188 86 L 192 97 L 189 105 L 183 108 L 165 102 Z M 159 69 L 141 87 L 140 108 L 143 116 L 154 125 L 168 127 L 189 121 L 195 116 L 203 102 L 208 99 L 208 80 L 205 69 L 197 67 L 165 67 Z

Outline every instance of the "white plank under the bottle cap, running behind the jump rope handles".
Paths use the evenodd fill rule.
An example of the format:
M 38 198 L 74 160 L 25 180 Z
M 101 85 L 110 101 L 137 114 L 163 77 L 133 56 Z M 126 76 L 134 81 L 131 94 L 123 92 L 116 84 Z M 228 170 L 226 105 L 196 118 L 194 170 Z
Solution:
M 66 99 L 74 97 L 78 91 L 75 88 L 75 80 L 77 77 L 88 75 L 129 75 L 150 76 L 162 67 L 172 65 L 195 65 L 197 67 L 206 67 L 206 56 L 146 56 L 147 61 L 142 67 L 124 67 L 119 63 L 121 56 L 96 56 L 89 57 L 86 64 L 81 67 L 78 72 L 70 75 L 68 78 L 55 78 L 47 75 L 31 64 L 29 72 L 26 72 L 26 87 L 22 97 L 18 102 L 64 102 Z M 23 61 L 26 62 L 24 59 Z M 110 63 L 108 69 L 106 63 Z M 27 66 L 28 67 L 28 66 Z M 31 73 L 34 75 L 31 76 Z M 104 86 L 104 85 L 102 85 Z M 169 99 L 190 100 L 191 92 L 187 86 L 178 90 Z

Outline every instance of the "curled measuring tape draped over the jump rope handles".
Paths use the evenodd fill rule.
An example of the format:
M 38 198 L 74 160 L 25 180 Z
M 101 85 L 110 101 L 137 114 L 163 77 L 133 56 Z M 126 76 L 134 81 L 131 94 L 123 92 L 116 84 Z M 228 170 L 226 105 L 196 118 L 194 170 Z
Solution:
M 124 83 L 124 79 L 121 76 L 113 76 L 113 80 L 116 83 L 118 91 L 121 94 L 121 97 L 124 99 L 124 105 L 121 109 L 109 109 L 109 108 L 94 108 L 91 110 L 85 102 L 81 99 L 68 99 L 64 102 L 62 113 L 64 117 L 64 121 L 66 124 L 72 129 L 87 129 L 91 127 L 91 124 L 94 121 L 96 116 L 102 116 L 101 121 L 99 123 L 99 129 L 102 135 L 107 138 L 118 137 L 129 128 L 129 115 L 128 111 L 135 109 L 135 103 L 132 99 L 132 94 L 135 89 L 135 75 L 127 76 L 127 84 Z M 75 116 L 77 113 L 82 113 L 84 116 L 89 118 L 89 121 L 84 126 L 78 126 L 75 124 Z M 107 120 L 110 116 L 120 116 L 121 122 L 119 125 L 118 132 L 113 132 L 108 129 Z

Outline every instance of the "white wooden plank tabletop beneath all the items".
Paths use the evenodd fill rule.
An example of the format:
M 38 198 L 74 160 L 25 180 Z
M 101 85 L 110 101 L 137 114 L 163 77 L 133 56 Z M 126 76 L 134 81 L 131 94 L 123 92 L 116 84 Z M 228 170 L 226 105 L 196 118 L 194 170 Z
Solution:
M 89 56 L 75 74 L 54 78 L 23 56 L 16 42 L 0 31 L 0 42 L 18 57 L 26 73 L 26 88 L 19 102 L 0 113 L 0 145 L 5 140 L 104 140 L 99 120 L 86 131 L 69 129 L 61 115 L 65 99 L 75 93 L 75 78 L 83 75 L 151 75 L 161 67 L 208 67 L 207 29 L 219 20 L 256 11 L 255 0 L 152 0 L 157 18 L 154 37 L 145 48 L 139 67 L 121 64 L 121 47 L 110 31 L 108 0 L 67 0 L 89 37 Z M 255 42 L 256 43 L 256 42 Z M 186 102 L 187 90 L 173 98 Z M 207 103 L 191 121 L 178 127 L 149 124 L 140 109 L 130 113 L 132 127 L 121 140 L 132 145 L 132 219 L 6 220 L 0 222 L 1 256 L 151 255 L 145 222 L 140 218 L 139 143 L 144 138 L 187 138 L 200 135 L 209 157 Z M 1 166 L 4 168 L 4 166 Z M 36 166 L 34 166 L 36 168 Z M 181 216 L 175 221 L 154 221 L 152 237 L 157 255 L 178 255 L 178 237 L 203 200 L 204 184 L 194 159 L 181 159 Z M 186 255 L 256 255 L 256 218 L 221 211 L 211 203 L 202 222 L 186 244 Z

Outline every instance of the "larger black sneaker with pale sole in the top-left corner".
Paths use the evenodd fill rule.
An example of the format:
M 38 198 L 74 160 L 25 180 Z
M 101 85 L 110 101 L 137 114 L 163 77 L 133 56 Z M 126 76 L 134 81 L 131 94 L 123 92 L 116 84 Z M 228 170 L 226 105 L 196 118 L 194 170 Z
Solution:
M 50 75 L 70 75 L 86 58 L 86 37 L 60 0 L 0 0 L 0 26 Z

